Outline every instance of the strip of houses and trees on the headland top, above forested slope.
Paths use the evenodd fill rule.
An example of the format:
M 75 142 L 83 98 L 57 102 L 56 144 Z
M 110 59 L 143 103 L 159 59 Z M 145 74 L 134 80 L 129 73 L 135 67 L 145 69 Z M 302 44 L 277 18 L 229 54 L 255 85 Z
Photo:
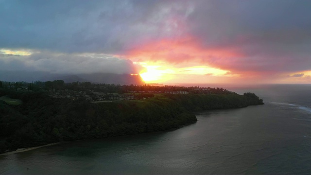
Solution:
M 48 82 L 2 82 L 0 88 L 17 91 L 44 90 L 53 98 L 69 98 L 71 100 L 86 99 L 92 102 L 107 100 L 139 100 L 154 97 L 155 94 L 231 94 L 234 92 L 223 88 L 179 87 L 150 85 L 114 85 L 94 84 L 90 82 L 64 83 L 63 80 Z

